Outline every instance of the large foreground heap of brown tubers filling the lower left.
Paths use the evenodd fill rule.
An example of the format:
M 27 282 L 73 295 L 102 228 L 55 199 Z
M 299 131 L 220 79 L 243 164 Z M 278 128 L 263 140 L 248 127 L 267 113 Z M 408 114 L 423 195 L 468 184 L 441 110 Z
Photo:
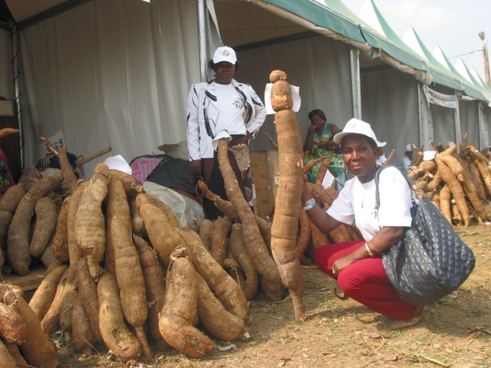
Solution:
M 32 330 L 47 345 L 46 357 L 30 357 L 31 345 L 16 340 L 28 364 L 56 367 L 50 337 L 60 330 L 84 355 L 104 346 L 122 362 L 172 348 L 199 358 L 214 340 L 248 337 L 248 300 L 259 290 L 280 300 L 284 286 L 272 257 L 271 225 L 253 214 L 238 184 L 230 184 L 236 178 L 227 151 L 224 140 L 219 163 L 231 201 L 214 195 L 224 216 L 200 226 L 180 228 L 174 212 L 135 177 L 104 163 L 88 180 L 76 178 L 66 150 L 59 152 L 61 177 L 42 179 L 27 193 L 18 185 L 6 192 L 0 214 L 8 263 L 20 275 L 34 259 L 47 265 L 29 303 L 13 286 L 1 289 L 1 302 L 18 314 L 22 305 L 37 322 L 27 341 Z M 2 354 L 10 362 L 16 354 L 12 339 L 5 339 Z

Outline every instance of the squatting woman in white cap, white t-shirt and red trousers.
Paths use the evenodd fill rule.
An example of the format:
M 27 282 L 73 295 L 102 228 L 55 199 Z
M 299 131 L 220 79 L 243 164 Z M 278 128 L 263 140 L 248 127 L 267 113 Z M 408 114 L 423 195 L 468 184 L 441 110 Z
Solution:
M 315 204 L 304 185 L 302 201 L 310 221 L 323 233 L 341 223 L 356 227 L 364 240 L 324 245 L 315 254 L 317 266 L 337 278 L 345 295 L 392 319 L 408 320 L 402 328 L 416 324 L 422 307 L 401 300 L 382 264 L 381 254 L 404 236 L 411 226 L 411 192 L 397 168 L 380 173 L 380 207 L 375 211 L 375 173 L 377 173 L 377 137 L 370 124 L 358 119 L 346 123 L 342 133 L 334 135 L 353 178 L 346 181 L 339 197 L 327 212 Z M 400 324 L 400 323 L 399 323 Z

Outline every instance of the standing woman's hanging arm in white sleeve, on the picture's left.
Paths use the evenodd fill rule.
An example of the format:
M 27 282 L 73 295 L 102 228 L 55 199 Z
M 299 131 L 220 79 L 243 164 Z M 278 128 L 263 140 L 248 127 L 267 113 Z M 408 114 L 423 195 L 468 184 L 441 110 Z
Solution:
M 194 176 L 202 175 L 200 157 L 200 125 L 198 123 L 198 92 L 195 85 L 191 86 L 188 94 L 187 138 L 189 151 L 189 166 Z

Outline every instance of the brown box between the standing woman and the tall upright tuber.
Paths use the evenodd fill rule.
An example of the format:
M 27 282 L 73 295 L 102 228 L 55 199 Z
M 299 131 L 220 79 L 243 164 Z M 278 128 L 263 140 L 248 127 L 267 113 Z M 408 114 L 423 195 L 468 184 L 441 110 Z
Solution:
M 256 189 L 256 213 L 265 218 L 274 209 L 278 189 L 278 151 L 250 152 Z

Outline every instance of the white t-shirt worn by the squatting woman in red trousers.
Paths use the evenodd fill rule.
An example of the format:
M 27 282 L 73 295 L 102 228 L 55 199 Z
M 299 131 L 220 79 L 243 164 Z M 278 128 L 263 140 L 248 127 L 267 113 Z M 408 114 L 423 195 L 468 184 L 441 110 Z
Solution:
M 327 214 L 348 225 L 356 221 L 356 227 L 366 241 L 384 226 L 411 226 L 411 190 L 397 168 L 385 168 L 380 173 L 379 193 L 377 214 L 375 179 L 360 183 L 357 177 L 352 178 L 346 181 Z

